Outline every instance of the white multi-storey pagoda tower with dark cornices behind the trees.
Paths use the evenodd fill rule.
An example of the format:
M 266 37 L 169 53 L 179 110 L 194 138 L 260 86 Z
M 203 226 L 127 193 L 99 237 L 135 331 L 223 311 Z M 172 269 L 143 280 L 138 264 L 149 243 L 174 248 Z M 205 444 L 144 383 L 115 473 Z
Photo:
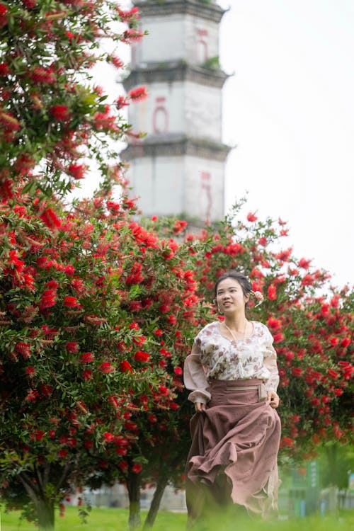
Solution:
M 178 216 L 193 224 L 224 217 L 222 86 L 219 23 L 214 1 L 135 1 L 149 35 L 132 48 L 125 90 L 147 86 L 128 121 L 143 139 L 122 152 L 146 216 Z

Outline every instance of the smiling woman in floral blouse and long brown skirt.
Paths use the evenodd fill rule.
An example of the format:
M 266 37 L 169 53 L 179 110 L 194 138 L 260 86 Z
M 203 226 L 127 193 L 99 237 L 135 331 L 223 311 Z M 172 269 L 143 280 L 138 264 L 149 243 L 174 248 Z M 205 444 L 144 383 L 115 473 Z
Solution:
M 279 376 L 268 328 L 246 319 L 251 295 L 261 296 L 241 273 L 219 277 L 215 302 L 224 320 L 205 326 L 185 359 L 185 387 L 197 413 L 187 461 L 189 523 L 215 503 L 263 517 L 277 506 Z

